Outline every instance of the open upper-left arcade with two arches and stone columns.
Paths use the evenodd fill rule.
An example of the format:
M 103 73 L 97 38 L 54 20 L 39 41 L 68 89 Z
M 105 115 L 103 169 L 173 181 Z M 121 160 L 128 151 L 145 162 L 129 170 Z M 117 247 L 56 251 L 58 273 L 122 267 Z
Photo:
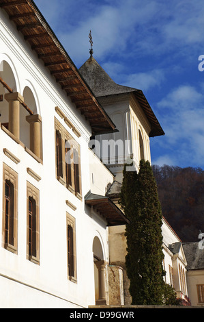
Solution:
M 37 114 L 35 96 L 29 86 L 25 86 L 23 96 L 20 95 L 13 71 L 7 61 L 1 61 L 0 123 L 42 159 L 42 119 Z

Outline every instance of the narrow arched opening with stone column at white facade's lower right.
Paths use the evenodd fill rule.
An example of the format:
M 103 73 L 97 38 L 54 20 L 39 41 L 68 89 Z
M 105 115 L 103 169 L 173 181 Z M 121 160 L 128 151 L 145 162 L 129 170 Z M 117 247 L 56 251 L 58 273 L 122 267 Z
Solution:
M 106 304 L 106 262 L 98 236 L 93 239 L 93 265 L 96 304 Z

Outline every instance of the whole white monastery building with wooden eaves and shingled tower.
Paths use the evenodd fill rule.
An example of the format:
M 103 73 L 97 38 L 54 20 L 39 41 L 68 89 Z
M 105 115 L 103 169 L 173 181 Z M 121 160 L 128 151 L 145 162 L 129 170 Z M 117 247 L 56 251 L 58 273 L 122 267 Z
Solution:
M 0 307 L 130 304 L 122 169 L 151 161 L 162 127 L 92 52 L 78 70 L 32 0 L 0 0 L 0 44 Z M 184 298 L 184 249 L 162 228 L 166 283 Z

